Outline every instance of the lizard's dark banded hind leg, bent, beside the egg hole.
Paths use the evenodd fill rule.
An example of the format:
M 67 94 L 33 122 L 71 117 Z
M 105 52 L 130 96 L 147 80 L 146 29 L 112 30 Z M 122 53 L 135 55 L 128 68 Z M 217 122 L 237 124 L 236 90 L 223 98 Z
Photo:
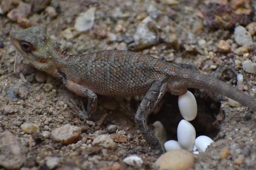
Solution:
M 140 106 L 135 115 L 135 122 L 139 126 L 140 130 L 143 133 L 145 140 L 151 146 L 153 150 L 158 151 L 158 153 L 163 153 L 163 148 L 161 147 L 160 142 L 157 137 L 154 135 L 154 132 L 148 127 L 146 120 L 149 114 L 153 111 L 157 103 L 166 93 L 167 82 L 156 81 L 149 88 L 148 92 L 145 94 L 143 100 L 140 103 Z

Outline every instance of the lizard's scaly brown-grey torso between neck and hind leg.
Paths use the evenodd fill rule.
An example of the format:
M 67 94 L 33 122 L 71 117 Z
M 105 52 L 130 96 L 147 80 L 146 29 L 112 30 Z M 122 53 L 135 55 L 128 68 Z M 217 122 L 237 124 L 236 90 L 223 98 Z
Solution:
M 96 94 L 134 96 L 145 94 L 157 79 L 165 79 L 166 62 L 131 51 L 106 50 L 83 55 L 70 55 L 67 77 Z M 68 73 L 73 74 L 68 74 Z

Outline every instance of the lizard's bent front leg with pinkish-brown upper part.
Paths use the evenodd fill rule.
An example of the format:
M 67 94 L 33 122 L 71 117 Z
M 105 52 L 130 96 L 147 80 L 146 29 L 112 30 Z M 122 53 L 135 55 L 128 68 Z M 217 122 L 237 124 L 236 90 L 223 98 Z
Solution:
M 63 73 L 59 73 L 59 79 L 63 82 L 66 88 L 75 94 L 86 97 L 88 99 L 87 111 L 83 111 L 82 113 L 78 113 L 78 116 L 81 119 L 88 119 L 90 116 L 95 113 L 97 107 L 97 95 L 88 88 L 81 86 L 73 81 L 70 81 L 66 78 L 66 75 Z

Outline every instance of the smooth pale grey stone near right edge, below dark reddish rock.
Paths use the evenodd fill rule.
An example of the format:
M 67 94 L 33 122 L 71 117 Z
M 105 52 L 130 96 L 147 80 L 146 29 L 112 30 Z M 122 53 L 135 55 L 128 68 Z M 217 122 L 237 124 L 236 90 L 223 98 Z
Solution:
M 253 43 L 250 32 L 248 32 L 243 26 L 237 26 L 235 28 L 234 34 L 236 43 L 238 43 L 239 45 L 250 45 Z

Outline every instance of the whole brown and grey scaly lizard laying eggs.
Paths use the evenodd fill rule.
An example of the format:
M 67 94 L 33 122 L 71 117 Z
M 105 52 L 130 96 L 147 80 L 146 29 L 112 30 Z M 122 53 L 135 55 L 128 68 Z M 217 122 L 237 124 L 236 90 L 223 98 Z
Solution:
M 88 99 L 87 114 L 96 111 L 96 94 L 135 96 L 145 94 L 135 122 L 154 150 L 163 152 L 146 119 L 166 91 L 185 94 L 199 88 L 222 94 L 256 111 L 253 97 L 199 71 L 170 64 L 146 54 L 106 50 L 90 54 L 67 55 L 44 29 L 31 27 L 12 33 L 11 40 L 20 54 L 35 68 L 58 77 L 70 91 Z M 86 115 L 84 115 L 86 117 Z

